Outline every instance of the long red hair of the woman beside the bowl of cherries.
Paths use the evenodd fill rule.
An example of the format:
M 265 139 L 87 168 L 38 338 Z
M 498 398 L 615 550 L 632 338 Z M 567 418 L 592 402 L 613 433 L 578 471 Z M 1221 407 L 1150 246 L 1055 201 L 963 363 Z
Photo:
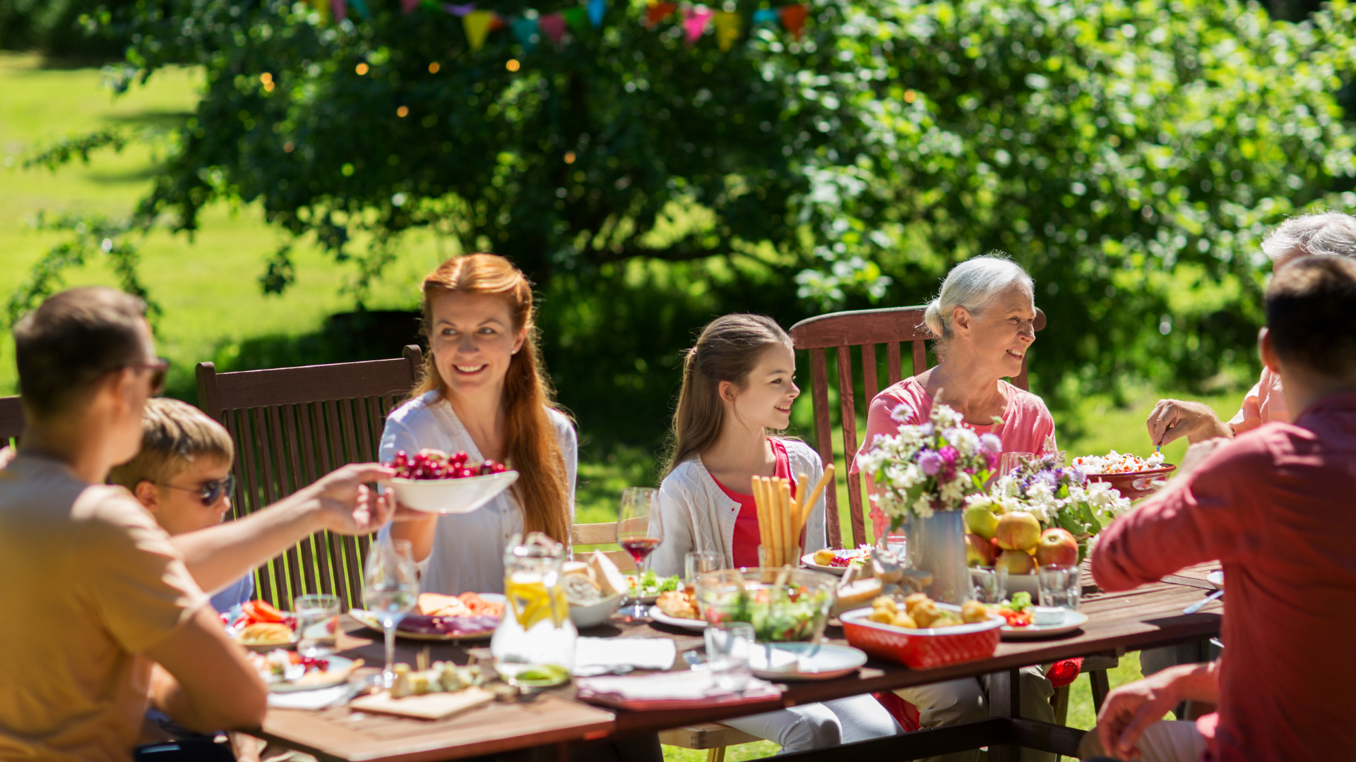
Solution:
M 414 396 L 426 392 L 438 392 L 443 397 L 447 395 L 447 385 L 438 373 L 433 353 L 433 302 L 453 292 L 503 297 L 513 315 L 514 331 L 526 328 L 527 340 L 509 361 L 509 372 L 504 374 L 500 400 L 504 414 L 504 456 L 509 465 L 518 470 L 518 483 L 513 489 L 522 506 L 525 533 L 545 532 L 568 545 L 570 483 L 565 477 L 565 457 L 546 412 L 548 408 L 559 408 L 551 382 L 542 372 L 532 283 L 507 259 L 494 254 L 454 256 L 424 278 L 423 332 L 430 351 Z

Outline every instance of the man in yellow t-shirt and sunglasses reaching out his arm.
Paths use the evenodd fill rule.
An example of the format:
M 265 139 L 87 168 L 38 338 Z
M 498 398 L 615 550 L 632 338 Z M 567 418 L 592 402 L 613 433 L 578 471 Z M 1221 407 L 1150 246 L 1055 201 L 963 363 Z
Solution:
M 108 469 L 164 380 L 144 304 L 72 289 L 14 328 L 26 428 L 0 470 L 0 758 L 132 758 L 149 701 L 190 729 L 254 728 L 266 690 L 203 590 L 321 529 L 369 533 L 389 499 L 344 466 L 247 519 L 170 537 Z

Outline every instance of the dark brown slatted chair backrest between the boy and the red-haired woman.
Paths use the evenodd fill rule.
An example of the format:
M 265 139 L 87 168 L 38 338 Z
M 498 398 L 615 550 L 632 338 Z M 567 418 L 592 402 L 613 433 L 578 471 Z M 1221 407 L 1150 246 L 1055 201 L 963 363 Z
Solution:
M 414 389 L 423 351 L 401 359 L 217 373 L 198 363 L 198 407 L 221 422 L 236 445 L 235 518 L 296 492 L 350 462 L 378 456 L 381 430 L 399 399 Z M 317 533 L 256 572 L 258 595 L 278 607 L 306 593 L 362 605 L 366 537 Z

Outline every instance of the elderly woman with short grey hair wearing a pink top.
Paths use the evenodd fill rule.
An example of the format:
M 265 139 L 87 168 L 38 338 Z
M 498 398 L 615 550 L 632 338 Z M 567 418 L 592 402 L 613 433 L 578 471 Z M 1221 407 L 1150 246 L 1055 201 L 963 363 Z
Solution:
M 923 315 L 937 336 L 936 367 L 904 378 L 871 401 L 862 454 L 877 435 L 894 434 L 900 424 L 928 422 L 934 403 L 959 412 L 978 434 L 995 434 L 1003 452 L 1043 453 L 1055 446 L 1055 419 L 1045 403 L 1005 378 L 1021 373 L 1022 359 L 1036 340 L 1036 304 L 1032 279 L 1018 264 L 999 256 L 976 256 L 953 267 Z M 902 409 L 900 409 L 902 408 Z M 892 415 L 902 412 L 903 415 Z M 1001 420 L 995 420 L 1001 419 Z M 857 473 L 853 464 L 852 473 Z M 873 484 L 868 480 L 868 491 Z M 876 537 L 885 532 L 885 518 L 872 508 Z M 1050 705 L 1054 687 L 1041 667 L 1026 667 L 1021 679 L 1024 717 L 1055 720 Z M 983 720 L 989 716 L 984 681 L 967 678 L 895 691 L 918 708 L 925 728 Z M 946 754 L 933 759 L 972 762 L 979 751 Z M 1054 759 L 1032 748 L 1025 762 Z

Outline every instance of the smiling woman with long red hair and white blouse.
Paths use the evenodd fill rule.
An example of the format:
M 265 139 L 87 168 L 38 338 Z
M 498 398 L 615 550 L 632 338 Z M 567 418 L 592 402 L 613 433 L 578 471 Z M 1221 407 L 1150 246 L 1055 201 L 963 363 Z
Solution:
M 434 447 L 518 472 L 513 488 L 476 511 L 401 511 L 384 530 L 411 541 L 424 591 L 503 593 L 514 534 L 570 544 L 578 439 L 553 404 L 533 317 L 527 278 L 502 256 L 454 256 L 423 281 L 424 378 L 386 419 L 381 461 Z

